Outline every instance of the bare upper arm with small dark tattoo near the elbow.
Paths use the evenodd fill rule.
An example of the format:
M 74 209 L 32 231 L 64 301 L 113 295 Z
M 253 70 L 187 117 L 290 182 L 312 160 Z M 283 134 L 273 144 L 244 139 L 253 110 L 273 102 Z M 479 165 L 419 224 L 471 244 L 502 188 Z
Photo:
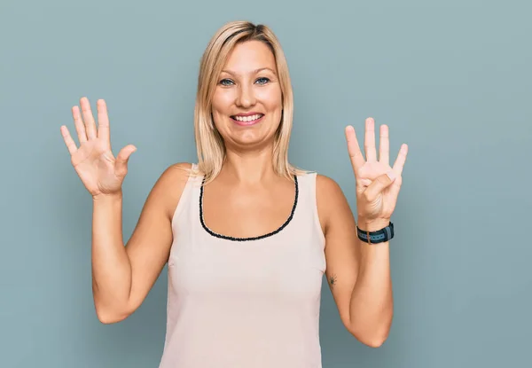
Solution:
M 340 319 L 343 325 L 349 328 L 349 305 L 356 283 L 360 254 L 355 217 L 340 185 L 326 176 L 317 176 L 317 207 L 325 228 L 327 282 Z

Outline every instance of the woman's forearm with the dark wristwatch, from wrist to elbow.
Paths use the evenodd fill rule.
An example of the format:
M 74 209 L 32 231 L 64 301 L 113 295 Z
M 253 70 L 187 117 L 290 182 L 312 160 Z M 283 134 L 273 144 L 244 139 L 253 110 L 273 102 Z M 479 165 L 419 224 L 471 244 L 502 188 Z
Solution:
M 360 221 L 364 228 L 364 221 Z M 385 227 L 376 224 L 372 230 Z M 351 294 L 350 323 L 357 337 L 379 346 L 387 339 L 393 316 L 392 280 L 389 242 L 368 244 L 357 239 L 360 262 L 356 284 Z

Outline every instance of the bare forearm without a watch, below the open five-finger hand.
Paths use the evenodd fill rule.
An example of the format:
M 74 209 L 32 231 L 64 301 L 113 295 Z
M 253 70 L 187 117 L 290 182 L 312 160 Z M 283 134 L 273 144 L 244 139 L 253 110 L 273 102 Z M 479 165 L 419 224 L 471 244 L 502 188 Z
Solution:
M 121 314 L 128 304 L 131 265 L 122 239 L 121 193 L 93 200 L 92 289 L 100 319 Z

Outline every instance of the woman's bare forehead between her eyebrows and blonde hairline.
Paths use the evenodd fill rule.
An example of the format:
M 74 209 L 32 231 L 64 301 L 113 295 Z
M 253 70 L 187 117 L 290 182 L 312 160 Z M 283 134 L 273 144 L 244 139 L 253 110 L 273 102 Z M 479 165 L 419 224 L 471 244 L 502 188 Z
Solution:
M 276 70 L 275 57 L 270 47 L 261 41 L 246 41 L 234 47 L 223 69 L 246 74 L 262 67 Z

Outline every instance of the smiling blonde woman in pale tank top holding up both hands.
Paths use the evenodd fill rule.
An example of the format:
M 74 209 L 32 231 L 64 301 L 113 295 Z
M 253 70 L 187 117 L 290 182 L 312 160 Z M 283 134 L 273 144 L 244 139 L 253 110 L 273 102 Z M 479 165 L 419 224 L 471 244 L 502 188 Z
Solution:
M 332 179 L 294 168 L 287 151 L 293 96 L 286 59 L 265 26 L 231 22 L 207 46 L 194 116 L 198 164 L 178 163 L 153 186 L 124 247 L 121 184 L 127 145 L 113 156 L 104 100 L 98 129 L 87 98 L 61 127 L 93 198 L 92 272 L 98 318 L 123 320 L 168 262 L 168 322 L 160 367 L 320 367 L 324 273 L 349 333 L 371 347 L 393 315 L 390 217 L 407 146 L 393 168 L 388 129 L 346 128 L 357 222 Z M 368 239 L 368 231 L 378 231 Z M 372 244 L 376 243 L 376 244 Z M 325 268 L 326 265 L 326 268 Z

